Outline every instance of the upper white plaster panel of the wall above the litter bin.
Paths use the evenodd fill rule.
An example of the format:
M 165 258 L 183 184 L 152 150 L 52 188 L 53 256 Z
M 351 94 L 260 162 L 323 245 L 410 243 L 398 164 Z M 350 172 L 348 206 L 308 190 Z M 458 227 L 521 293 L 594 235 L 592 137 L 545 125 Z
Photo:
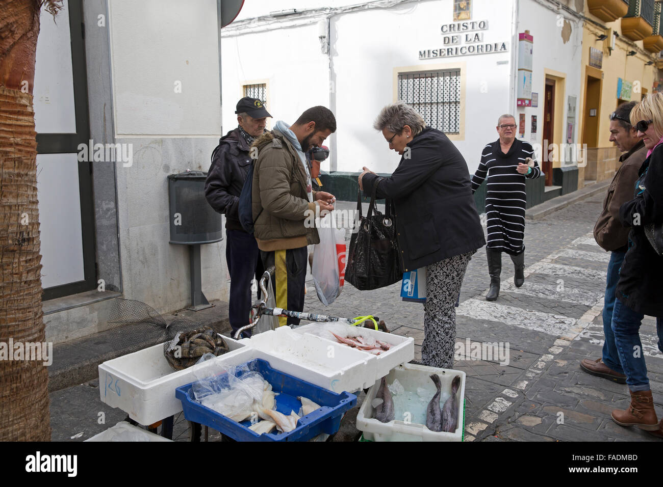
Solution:
M 111 0 L 109 15 L 115 134 L 216 134 L 215 0 Z

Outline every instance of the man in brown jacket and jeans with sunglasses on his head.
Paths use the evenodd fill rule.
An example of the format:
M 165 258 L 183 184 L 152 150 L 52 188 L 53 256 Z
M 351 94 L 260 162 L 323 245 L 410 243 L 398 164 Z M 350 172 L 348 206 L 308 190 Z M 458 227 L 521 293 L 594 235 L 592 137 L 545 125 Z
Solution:
M 619 207 L 633 199 L 638 170 L 647 155 L 647 149 L 638 137 L 638 131 L 631 126 L 629 118 L 635 105 L 634 101 L 623 103 L 610 115 L 610 140 L 615 142 L 617 148 L 624 154 L 619 158 L 622 164 L 615 172 L 613 182 L 603 201 L 603 213 L 594 226 L 596 243 L 605 250 L 611 251 L 603 303 L 603 334 L 605 335 L 603 358 L 597 360 L 585 358 L 580 362 L 580 367 L 585 372 L 614 380 L 619 384 L 626 383 L 626 376 L 619 361 L 611 323 L 615 307 L 615 287 L 619 280 L 619 268 L 628 249 L 630 230 L 623 227 L 619 221 Z

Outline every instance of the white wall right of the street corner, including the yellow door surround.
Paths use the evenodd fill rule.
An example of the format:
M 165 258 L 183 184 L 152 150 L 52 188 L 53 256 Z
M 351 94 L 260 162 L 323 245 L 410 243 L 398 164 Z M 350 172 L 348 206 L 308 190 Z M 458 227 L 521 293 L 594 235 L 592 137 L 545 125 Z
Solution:
M 570 7 L 573 8 L 573 5 Z M 544 95 L 546 76 L 550 76 L 556 80 L 556 109 L 554 111 L 554 140 L 550 140 L 549 143 L 568 143 L 566 123 L 569 116 L 569 97 L 575 97 L 575 130 L 572 142 L 579 142 L 582 22 L 564 10 L 553 11 L 538 1 L 524 0 L 519 3 L 517 26 L 517 32 L 529 30 L 530 35 L 534 38 L 532 92 L 538 93 L 538 107 L 518 107 L 516 109 L 517 113 L 525 114 L 525 140 L 532 144 L 543 144 Z M 516 72 L 518 70 L 517 58 L 514 70 Z M 563 90 L 560 89 L 562 86 Z M 535 115 L 537 119 L 537 132 L 534 139 L 532 139 L 532 115 Z M 518 123 L 517 118 L 516 123 Z M 553 167 L 560 167 L 560 161 L 554 160 Z

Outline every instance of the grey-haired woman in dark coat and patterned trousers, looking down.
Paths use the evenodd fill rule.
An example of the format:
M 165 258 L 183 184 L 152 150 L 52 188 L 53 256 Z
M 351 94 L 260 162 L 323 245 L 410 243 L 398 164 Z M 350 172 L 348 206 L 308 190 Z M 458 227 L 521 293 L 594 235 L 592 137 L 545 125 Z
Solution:
M 403 269 L 426 268 L 422 362 L 453 368 L 455 301 L 472 254 L 485 245 L 467 164 L 402 101 L 384 107 L 373 127 L 401 158 L 389 178 L 363 168 L 359 188 L 392 200 Z

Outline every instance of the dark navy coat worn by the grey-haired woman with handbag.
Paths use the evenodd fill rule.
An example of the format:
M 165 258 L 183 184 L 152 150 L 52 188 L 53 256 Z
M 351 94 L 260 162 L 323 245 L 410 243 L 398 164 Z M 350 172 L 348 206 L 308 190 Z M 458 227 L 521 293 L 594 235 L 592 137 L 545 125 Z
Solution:
M 403 270 L 472 252 L 486 244 L 465 159 L 444 133 L 426 127 L 408 142 L 389 178 L 365 174 L 365 195 L 392 199 Z

